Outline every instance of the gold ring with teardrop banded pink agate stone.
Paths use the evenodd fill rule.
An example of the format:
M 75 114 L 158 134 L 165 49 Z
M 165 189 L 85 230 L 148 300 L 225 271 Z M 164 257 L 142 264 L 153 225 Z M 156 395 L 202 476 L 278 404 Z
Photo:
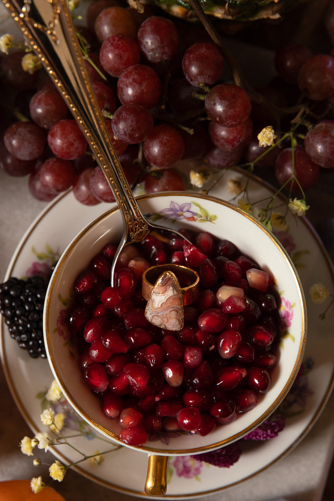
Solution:
M 159 265 L 143 273 L 142 293 L 147 301 L 145 317 L 161 329 L 178 331 L 184 323 L 184 307 L 196 301 L 199 276 L 181 265 Z

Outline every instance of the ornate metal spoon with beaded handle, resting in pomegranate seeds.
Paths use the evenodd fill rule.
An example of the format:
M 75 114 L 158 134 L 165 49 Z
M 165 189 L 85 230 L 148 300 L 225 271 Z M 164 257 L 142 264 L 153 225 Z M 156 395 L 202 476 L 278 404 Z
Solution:
M 24 0 L 23 6 L 18 0 L 2 1 L 66 100 L 121 209 L 123 235 L 112 266 L 114 285 L 117 259 L 126 244 L 140 242 L 157 229 L 180 233 L 149 223 L 140 211 L 97 104 L 67 0 Z

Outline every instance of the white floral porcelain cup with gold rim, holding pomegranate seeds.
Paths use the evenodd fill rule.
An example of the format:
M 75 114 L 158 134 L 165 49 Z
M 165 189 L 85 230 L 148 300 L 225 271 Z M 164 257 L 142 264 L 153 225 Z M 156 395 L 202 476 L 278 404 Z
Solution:
M 147 441 L 143 446 L 136 447 L 158 455 L 189 455 L 213 450 L 240 439 L 259 426 L 277 408 L 291 387 L 302 360 L 306 337 L 305 301 L 300 280 L 276 238 L 255 218 L 228 202 L 198 193 L 175 192 L 140 196 L 138 203 L 145 217 L 153 220 L 154 214 L 170 208 L 168 216 L 159 219 L 161 225 L 174 229 L 188 227 L 196 231 L 205 230 L 232 241 L 243 254 L 251 256 L 271 274 L 281 295 L 280 313 L 286 319 L 286 332 L 277 348 L 278 363 L 271 373 L 270 389 L 258 398 L 256 407 L 239 414 L 228 425 L 216 426 L 205 437 L 182 434 L 171 438 L 169 443 Z M 184 217 L 186 210 L 192 211 L 193 215 Z M 68 342 L 70 340 L 64 339 L 59 329 L 59 319 L 66 308 L 63 303 L 70 297 L 76 277 L 106 243 L 118 242 L 121 232 L 122 218 L 119 210 L 114 208 L 92 221 L 70 243 L 49 285 L 44 332 L 51 369 L 70 404 L 93 428 L 124 445 L 118 438 L 120 428 L 117 420 L 110 420 L 103 414 L 98 398 L 83 381 L 74 346 Z

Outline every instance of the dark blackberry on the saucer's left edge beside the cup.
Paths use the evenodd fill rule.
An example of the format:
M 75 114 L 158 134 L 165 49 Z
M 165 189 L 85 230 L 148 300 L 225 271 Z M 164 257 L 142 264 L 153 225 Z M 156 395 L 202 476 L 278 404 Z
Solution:
M 49 280 L 38 275 L 27 280 L 11 277 L 0 284 L 0 314 L 9 333 L 32 358 L 46 358 L 43 307 Z

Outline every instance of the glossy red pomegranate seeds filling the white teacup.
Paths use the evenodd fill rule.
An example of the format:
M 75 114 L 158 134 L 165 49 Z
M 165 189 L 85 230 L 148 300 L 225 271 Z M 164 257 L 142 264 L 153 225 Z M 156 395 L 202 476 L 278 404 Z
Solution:
M 66 322 L 83 377 L 129 445 L 175 430 L 205 436 L 252 409 L 270 387 L 279 339 L 272 278 L 228 240 L 186 236 L 193 244 L 175 236 L 167 245 L 150 235 L 127 246 L 114 288 L 117 246 L 106 245 L 74 284 Z M 200 277 L 199 299 L 184 308 L 179 331 L 153 326 L 144 315 L 143 271 L 166 263 Z

